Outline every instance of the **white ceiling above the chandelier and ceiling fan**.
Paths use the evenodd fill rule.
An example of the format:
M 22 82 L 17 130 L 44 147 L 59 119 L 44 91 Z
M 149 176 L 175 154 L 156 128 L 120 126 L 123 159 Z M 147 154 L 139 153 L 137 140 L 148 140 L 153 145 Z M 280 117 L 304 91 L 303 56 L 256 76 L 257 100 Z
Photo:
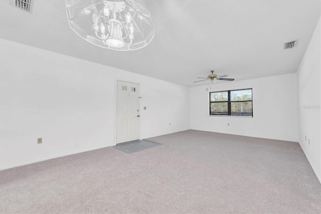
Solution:
M 32 0 L 31 13 L 9 1 L 0 0 L 1 38 L 187 86 L 208 84 L 193 81 L 213 69 L 235 80 L 296 72 L 320 17 L 320 0 L 137 0 L 155 37 L 116 51 L 74 33 L 65 0 Z

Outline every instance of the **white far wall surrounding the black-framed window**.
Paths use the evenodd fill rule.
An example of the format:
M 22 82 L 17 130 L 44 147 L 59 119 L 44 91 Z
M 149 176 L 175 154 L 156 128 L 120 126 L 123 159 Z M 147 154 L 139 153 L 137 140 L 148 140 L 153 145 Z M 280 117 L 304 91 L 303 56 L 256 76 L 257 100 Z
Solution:
M 209 116 L 209 92 L 243 88 L 253 88 L 253 117 Z M 191 87 L 190 96 L 191 129 L 298 141 L 296 73 Z

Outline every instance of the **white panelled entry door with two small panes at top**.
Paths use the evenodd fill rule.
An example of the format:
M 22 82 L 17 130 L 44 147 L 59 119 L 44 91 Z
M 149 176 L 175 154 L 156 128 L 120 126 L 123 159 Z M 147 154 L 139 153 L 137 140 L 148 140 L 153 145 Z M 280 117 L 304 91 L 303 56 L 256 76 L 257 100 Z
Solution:
M 139 84 L 117 80 L 117 143 L 139 139 Z

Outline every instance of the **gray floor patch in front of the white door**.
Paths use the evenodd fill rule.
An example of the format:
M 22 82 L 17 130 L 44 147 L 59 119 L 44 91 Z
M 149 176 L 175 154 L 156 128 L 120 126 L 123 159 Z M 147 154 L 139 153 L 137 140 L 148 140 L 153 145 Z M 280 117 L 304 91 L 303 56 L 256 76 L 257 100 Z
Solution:
M 121 150 L 127 154 L 131 154 L 131 153 L 141 151 L 141 150 L 144 150 L 147 148 L 151 148 L 151 147 L 154 147 L 157 145 L 160 145 L 160 144 L 140 139 L 140 140 L 119 143 L 119 144 L 111 146 L 111 147 Z

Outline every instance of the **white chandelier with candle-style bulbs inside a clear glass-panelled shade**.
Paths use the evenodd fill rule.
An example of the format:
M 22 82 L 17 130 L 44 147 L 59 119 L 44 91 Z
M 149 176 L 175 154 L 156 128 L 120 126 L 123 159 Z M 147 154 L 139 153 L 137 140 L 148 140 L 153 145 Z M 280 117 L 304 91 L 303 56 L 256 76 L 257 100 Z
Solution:
M 66 0 L 66 10 L 69 26 L 104 48 L 139 49 L 155 35 L 150 12 L 135 0 Z

